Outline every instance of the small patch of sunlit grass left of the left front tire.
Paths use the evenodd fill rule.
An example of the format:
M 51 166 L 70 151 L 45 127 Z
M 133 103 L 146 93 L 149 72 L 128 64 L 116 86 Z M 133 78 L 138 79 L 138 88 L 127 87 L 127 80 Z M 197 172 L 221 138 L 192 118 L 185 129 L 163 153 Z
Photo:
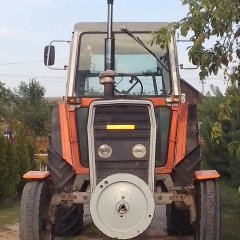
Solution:
M 5 225 L 18 222 L 19 208 L 19 200 L 0 206 L 0 231 L 5 229 Z

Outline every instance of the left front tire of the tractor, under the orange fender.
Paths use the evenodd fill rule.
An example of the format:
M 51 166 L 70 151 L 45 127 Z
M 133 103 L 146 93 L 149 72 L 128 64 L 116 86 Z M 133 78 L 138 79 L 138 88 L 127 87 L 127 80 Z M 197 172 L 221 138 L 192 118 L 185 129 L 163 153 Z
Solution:
M 48 215 L 50 193 L 46 182 L 28 182 L 20 206 L 20 239 L 53 240 L 54 233 Z

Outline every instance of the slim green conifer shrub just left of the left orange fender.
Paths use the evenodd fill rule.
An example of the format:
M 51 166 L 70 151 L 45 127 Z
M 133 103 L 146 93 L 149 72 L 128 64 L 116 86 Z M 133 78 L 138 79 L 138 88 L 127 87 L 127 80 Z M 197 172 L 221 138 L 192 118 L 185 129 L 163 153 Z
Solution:
M 23 127 L 18 127 L 16 132 L 16 153 L 19 162 L 19 175 L 22 175 L 31 170 L 31 163 L 27 147 L 27 138 Z M 21 178 L 18 184 L 18 192 L 21 193 L 26 181 Z

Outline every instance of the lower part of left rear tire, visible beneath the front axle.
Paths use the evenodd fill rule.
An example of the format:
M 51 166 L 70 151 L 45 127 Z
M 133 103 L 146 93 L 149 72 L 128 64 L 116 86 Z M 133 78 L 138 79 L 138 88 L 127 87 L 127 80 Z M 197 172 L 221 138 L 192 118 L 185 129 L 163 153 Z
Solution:
M 57 236 L 75 236 L 83 230 L 83 205 L 59 205 L 55 219 L 55 233 Z

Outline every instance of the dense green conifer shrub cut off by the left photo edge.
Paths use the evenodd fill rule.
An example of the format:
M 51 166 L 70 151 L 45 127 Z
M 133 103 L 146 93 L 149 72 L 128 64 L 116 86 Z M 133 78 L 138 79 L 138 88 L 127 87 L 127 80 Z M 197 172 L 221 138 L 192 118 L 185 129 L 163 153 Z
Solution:
M 0 202 L 16 193 L 19 162 L 12 143 L 0 133 Z

